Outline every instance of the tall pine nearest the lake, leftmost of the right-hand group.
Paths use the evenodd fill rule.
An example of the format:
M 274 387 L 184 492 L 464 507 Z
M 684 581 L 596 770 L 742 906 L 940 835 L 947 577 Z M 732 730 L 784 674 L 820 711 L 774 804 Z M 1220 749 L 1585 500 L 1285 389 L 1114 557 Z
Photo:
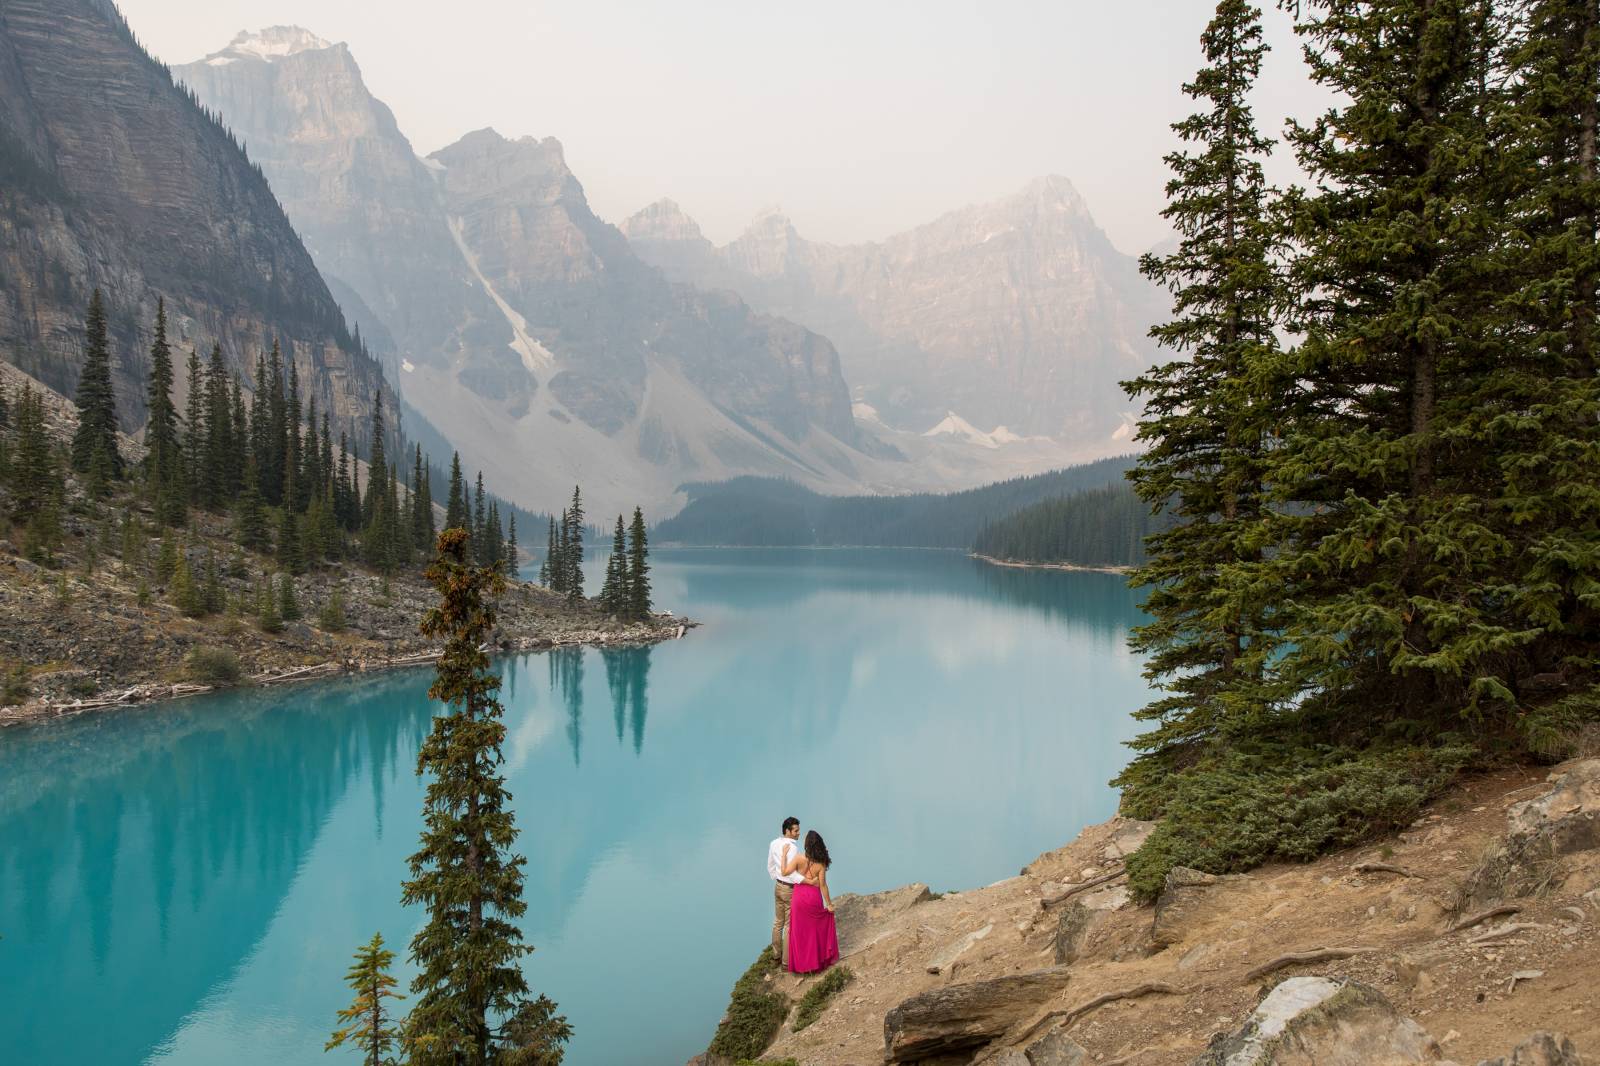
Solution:
M 1186 147 L 1166 157 L 1162 216 L 1181 243 L 1139 264 L 1173 293 L 1173 320 L 1150 335 L 1176 359 L 1125 386 L 1144 403 L 1138 439 L 1149 442 L 1130 477 L 1152 511 L 1176 517 L 1150 538 L 1150 559 L 1134 575 L 1149 589 L 1152 621 L 1133 645 L 1166 690 L 1138 714 L 1162 725 L 1136 746 L 1158 760 L 1230 714 L 1248 717 L 1274 648 L 1274 589 L 1246 576 L 1262 557 L 1264 467 L 1286 392 L 1274 384 L 1280 238 L 1261 168 L 1272 142 L 1248 102 L 1267 51 L 1261 11 L 1221 0 L 1200 43 L 1208 66 L 1184 93 L 1202 107 L 1174 123 Z M 1146 762 L 1128 775 L 1147 773 Z

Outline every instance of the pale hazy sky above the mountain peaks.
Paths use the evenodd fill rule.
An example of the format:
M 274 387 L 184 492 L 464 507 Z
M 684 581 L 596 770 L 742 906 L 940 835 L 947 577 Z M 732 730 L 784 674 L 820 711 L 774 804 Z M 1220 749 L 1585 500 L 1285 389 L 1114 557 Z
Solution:
M 350 45 L 421 154 L 462 133 L 557 136 L 613 222 L 672 197 L 706 235 L 781 205 L 816 240 L 870 240 L 1066 174 L 1125 251 L 1157 216 L 1206 0 L 120 0 L 168 62 L 242 29 Z M 1258 117 L 1322 93 L 1286 16 Z M 1293 173 L 1278 152 L 1275 178 Z

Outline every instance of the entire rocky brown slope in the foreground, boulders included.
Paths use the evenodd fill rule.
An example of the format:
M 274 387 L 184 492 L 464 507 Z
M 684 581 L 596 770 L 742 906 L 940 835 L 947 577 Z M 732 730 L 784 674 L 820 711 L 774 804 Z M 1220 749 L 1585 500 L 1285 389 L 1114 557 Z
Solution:
M 795 1031 L 794 1007 L 818 978 L 770 970 L 760 986 L 786 1016 L 752 1058 L 1597 1061 L 1600 759 L 1469 779 L 1410 829 L 1315 863 L 1178 869 L 1154 906 L 1136 906 L 1125 858 L 1150 828 L 1090 826 L 973 892 L 840 896 L 848 986 Z

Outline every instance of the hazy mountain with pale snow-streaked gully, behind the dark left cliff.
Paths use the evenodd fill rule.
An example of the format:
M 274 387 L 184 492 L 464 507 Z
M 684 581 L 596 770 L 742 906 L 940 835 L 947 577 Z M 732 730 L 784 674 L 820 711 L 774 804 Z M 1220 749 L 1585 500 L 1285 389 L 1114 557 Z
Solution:
M 669 282 L 594 216 L 554 138 L 480 130 L 419 160 L 347 48 L 286 27 L 178 75 L 251 146 L 363 333 L 394 338 L 406 400 L 514 498 L 861 483 L 874 445 L 827 339 Z

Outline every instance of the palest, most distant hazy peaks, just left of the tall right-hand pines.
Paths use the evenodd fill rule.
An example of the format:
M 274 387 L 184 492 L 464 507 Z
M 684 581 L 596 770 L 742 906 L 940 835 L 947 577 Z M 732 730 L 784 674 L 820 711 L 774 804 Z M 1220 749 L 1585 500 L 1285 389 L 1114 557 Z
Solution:
M 1162 301 L 1066 178 L 882 243 L 808 242 L 768 211 L 715 248 L 670 202 L 622 229 L 669 277 L 829 336 L 858 399 L 890 426 L 923 432 L 954 413 L 992 437 L 1126 447 L 1117 383 L 1150 363 Z

